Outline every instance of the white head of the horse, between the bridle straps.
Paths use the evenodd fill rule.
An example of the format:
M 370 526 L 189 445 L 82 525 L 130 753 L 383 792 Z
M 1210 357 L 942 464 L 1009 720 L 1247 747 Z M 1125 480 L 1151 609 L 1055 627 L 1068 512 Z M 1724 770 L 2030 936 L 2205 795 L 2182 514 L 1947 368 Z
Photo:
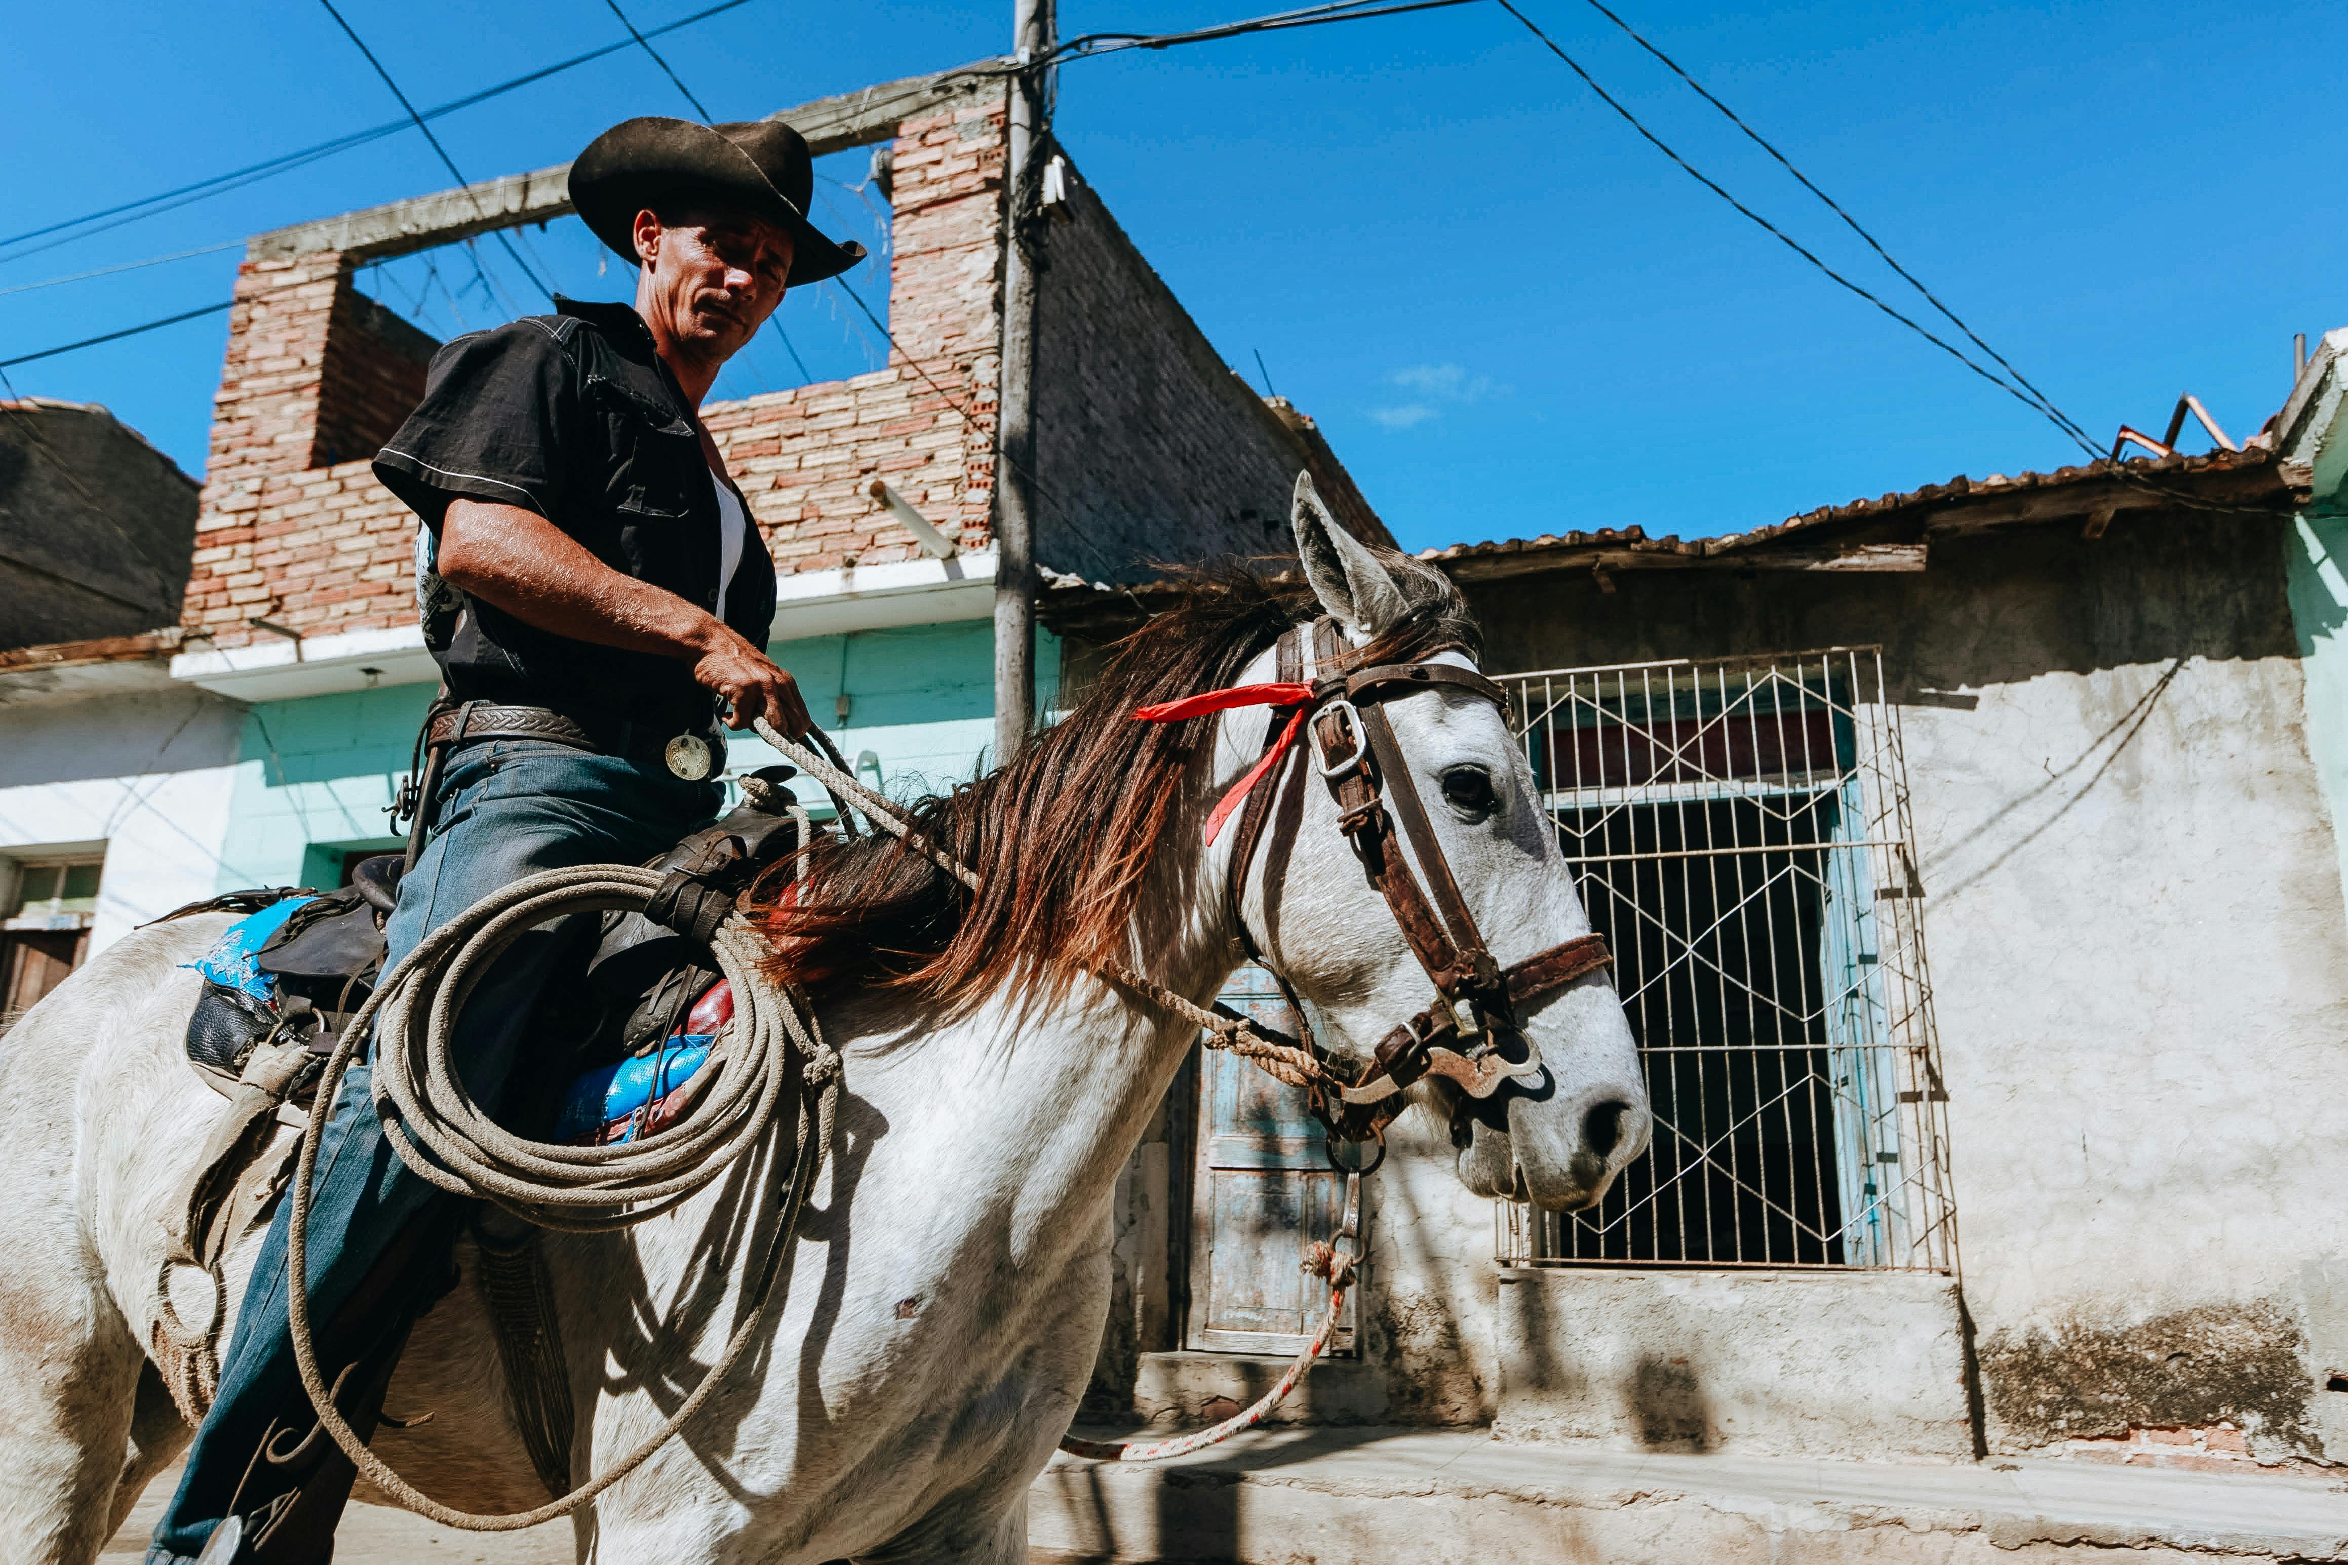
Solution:
M 1313 596 L 1343 638 L 1367 652 L 1362 662 L 1413 657 L 1475 669 L 1475 626 L 1442 573 L 1357 542 L 1329 519 L 1305 479 L 1296 486 L 1294 526 Z M 1242 683 L 1270 678 L 1270 655 L 1263 655 Z M 1503 711 L 1437 685 L 1390 699 L 1388 716 L 1409 777 L 1383 784 L 1418 791 L 1498 964 L 1505 969 L 1590 934 L 1557 831 Z M 1230 713 L 1216 777 L 1244 772 L 1261 739 L 1261 718 Z M 1432 988 L 1385 899 L 1343 852 L 1336 800 L 1303 772 L 1308 767 L 1296 767 L 1289 777 L 1266 845 L 1249 866 L 1240 913 L 1273 971 L 1317 1011 L 1324 1042 L 1367 1061 L 1395 1023 L 1428 1007 Z M 1425 885 L 1428 868 L 1416 856 L 1411 868 Z M 1470 1190 L 1580 1211 L 1646 1147 L 1651 1119 L 1637 1044 L 1604 969 L 1531 1002 L 1519 1021 L 1540 1054 L 1538 1075 L 1514 1077 L 1484 1100 L 1435 1077 L 1413 1091 L 1451 1122 L 1458 1173 Z

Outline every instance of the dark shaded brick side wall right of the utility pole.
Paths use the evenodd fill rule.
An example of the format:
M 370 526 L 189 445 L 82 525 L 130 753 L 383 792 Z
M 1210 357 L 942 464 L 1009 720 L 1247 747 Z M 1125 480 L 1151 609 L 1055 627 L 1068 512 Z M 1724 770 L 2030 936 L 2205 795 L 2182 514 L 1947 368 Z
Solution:
M 1045 223 L 1038 286 L 1038 561 L 1132 582 L 1151 558 L 1284 554 L 1308 465 L 1324 495 L 1359 500 L 1310 420 L 1230 373 L 1099 195 L 1075 183 L 1066 214 Z M 1390 542 L 1367 504 L 1345 521 Z

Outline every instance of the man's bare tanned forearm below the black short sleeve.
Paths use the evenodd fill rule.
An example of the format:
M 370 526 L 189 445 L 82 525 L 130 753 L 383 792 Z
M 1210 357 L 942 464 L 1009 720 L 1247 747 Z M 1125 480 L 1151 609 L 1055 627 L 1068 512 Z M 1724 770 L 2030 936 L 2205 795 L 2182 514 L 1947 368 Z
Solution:
M 453 500 L 437 570 L 514 619 L 606 648 L 695 659 L 726 636 L 716 615 L 620 575 L 538 511 Z

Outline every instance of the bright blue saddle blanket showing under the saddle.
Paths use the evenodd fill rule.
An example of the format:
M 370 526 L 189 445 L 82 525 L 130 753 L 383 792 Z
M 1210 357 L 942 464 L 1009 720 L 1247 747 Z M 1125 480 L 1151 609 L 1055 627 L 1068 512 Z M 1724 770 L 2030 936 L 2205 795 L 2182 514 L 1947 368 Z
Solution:
M 275 1016 L 277 976 L 261 971 L 254 957 L 308 901 L 312 899 L 289 896 L 237 920 L 211 950 L 185 967 Z M 733 1021 L 733 985 L 718 978 L 702 990 L 660 1049 L 599 1065 L 573 1079 L 554 1117 L 554 1140 L 599 1147 L 664 1131 L 693 1103 L 686 1089 L 709 1063 L 716 1035 L 728 1021 Z

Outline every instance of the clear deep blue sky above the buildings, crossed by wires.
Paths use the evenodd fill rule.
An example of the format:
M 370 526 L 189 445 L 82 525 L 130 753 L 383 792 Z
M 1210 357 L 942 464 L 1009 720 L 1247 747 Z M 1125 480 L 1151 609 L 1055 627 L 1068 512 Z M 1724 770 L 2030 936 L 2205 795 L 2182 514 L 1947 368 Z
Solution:
M 1888 298 L 1902 286 L 1583 0 L 1519 2 L 1747 204 Z M 423 103 L 620 38 L 599 0 L 343 5 Z M 641 26 L 697 9 L 622 5 Z M 1259 5 L 1064 0 L 1061 33 Z M 2317 178 L 2348 141 L 2325 92 L 2348 7 L 1615 9 L 2101 439 L 2123 420 L 2158 432 L 2179 392 L 2249 434 L 2289 389 L 2292 333 L 2348 324 L 2348 225 Z M 996 54 L 1007 31 L 996 0 L 751 0 L 657 47 L 714 113 L 749 117 Z M 23 5 L 9 35 L 5 232 L 399 113 L 315 0 Z M 486 178 L 561 162 L 636 113 L 690 108 L 622 52 L 437 129 Z M 1261 387 L 1261 352 L 1411 547 L 1632 523 L 1707 535 L 2076 460 L 2040 415 L 1665 162 L 1498 5 L 1080 61 L 1061 73 L 1059 131 L 1223 359 Z M 864 155 L 824 171 L 824 216 L 878 223 L 855 190 Z M 409 131 L 38 253 L 0 244 L 0 359 L 221 300 L 237 251 L 23 284 L 446 183 Z M 618 293 L 580 232 L 528 244 L 568 291 Z M 542 307 L 502 253 L 481 253 L 486 286 L 451 256 L 439 277 L 385 267 L 369 291 L 439 336 Z M 873 361 L 829 289 L 789 300 L 782 321 L 819 378 Z M 223 338 L 209 317 L 9 378 L 103 401 L 200 472 Z M 768 340 L 726 389 L 796 380 Z

